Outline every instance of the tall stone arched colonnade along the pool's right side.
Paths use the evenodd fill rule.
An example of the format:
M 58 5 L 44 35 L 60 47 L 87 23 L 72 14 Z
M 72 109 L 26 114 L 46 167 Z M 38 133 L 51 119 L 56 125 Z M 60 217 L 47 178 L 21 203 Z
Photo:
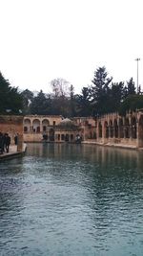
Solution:
M 121 117 L 118 114 L 105 115 L 96 119 L 96 140 L 102 143 L 122 143 L 136 140 L 143 147 L 143 113 L 134 112 Z

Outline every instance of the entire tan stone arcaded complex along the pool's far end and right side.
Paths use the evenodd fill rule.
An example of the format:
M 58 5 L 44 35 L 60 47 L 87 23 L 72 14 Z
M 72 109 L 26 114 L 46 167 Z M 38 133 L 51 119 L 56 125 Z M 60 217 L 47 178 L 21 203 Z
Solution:
M 143 111 L 128 113 L 125 117 L 117 113 L 98 118 L 62 116 L 24 117 L 24 140 L 51 142 L 83 142 L 143 148 Z

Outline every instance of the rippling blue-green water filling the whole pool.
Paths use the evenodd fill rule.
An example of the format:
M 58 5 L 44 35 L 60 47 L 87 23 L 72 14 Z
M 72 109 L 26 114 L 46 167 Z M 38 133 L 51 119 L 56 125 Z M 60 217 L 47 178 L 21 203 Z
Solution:
M 142 256 L 143 152 L 30 144 L 0 163 L 1 256 Z

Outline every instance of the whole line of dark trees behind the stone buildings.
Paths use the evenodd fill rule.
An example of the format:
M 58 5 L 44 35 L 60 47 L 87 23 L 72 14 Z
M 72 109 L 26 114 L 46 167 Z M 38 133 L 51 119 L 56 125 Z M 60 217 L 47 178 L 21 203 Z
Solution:
M 143 95 L 140 88 L 136 92 L 133 78 L 113 82 L 105 66 L 94 71 L 92 84 L 82 87 L 80 94 L 64 79 L 52 80 L 51 89 L 49 94 L 40 90 L 37 96 L 29 89 L 19 92 L 0 73 L 0 113 L 95 117 L 143 108 Z

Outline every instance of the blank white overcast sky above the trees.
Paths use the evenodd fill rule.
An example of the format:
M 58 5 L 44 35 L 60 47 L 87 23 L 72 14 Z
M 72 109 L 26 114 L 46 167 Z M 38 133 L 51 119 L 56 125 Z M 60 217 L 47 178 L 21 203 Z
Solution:
M 142 0 L 0 0 L 0 71 L 12 86 L 76 93 L 105 66 L 113 81 L 143 89 Z

